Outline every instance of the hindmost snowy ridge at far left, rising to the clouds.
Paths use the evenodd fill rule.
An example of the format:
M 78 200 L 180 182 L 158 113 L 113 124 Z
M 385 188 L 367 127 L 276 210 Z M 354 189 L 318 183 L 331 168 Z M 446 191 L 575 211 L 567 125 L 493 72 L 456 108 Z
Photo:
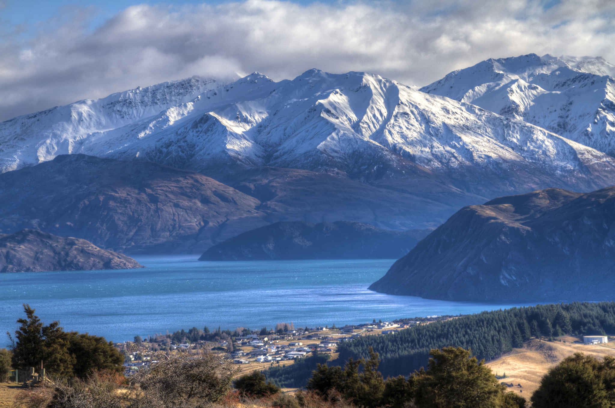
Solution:
M 218 86 L 213 79 L 194 76 L 1 122 L 0 172 L 46 162 L 60 154 L 77 153 L 86 141 L 108 138 L 115 129 L 159 115 Z

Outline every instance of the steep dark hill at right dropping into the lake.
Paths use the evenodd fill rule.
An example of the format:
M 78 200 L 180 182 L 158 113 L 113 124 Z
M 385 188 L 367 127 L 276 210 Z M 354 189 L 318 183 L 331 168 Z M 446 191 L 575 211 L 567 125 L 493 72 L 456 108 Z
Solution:
M 370 289 L 448 300 L 615 298 L 615 187 L 462 208 Z

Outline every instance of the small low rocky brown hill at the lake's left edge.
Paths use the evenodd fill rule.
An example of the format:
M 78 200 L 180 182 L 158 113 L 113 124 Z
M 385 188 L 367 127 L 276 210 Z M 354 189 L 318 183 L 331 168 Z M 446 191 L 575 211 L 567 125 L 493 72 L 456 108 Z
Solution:
M 0 272 L 142 268 L 134 259 L 91 242 L 25 229 L 0 234 Z

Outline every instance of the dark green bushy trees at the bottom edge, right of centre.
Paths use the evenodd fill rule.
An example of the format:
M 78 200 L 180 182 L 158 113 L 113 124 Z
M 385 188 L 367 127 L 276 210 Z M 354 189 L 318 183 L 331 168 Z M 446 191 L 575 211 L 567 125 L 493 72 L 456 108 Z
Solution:
M 370 350 L 367 361 L 349 359 L 344 369 L 319 365 L 309 380 L 308 390 L 323 398 L 336 390 L 361 407 L 426 408 L 517 408 L 525 399 L 506 393 L 506 387 L 469 350 L 445 347 L 431 350 L 427 369 L 405 377 L 383 380 L 378 354 Z M 363 366 L 363 372 L 359 367 Z

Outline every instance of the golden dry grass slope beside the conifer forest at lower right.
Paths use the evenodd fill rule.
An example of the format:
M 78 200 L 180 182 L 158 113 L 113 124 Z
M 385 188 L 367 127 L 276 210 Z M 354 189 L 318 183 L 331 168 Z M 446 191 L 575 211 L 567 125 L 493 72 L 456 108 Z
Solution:
M 523 348 L 514 348 L 509 354 L 490 361 L 486 365 L 494 374 L 506 373 L 506 379 L 501 382 L 513 383 L 509 391 L 515 391 L 526 399 L 540 385 L 542 376 L 547 374 L 551 367 L 574 353 L 581 352 L 601 359 L 603 356 L 615 356 L 613 343 L 605 345 L 584 345 L 577 337 L 562 337 L 564 342 L 546 342 L 530 340 Z M 521 384 L 521 387 L 517 386 Z

